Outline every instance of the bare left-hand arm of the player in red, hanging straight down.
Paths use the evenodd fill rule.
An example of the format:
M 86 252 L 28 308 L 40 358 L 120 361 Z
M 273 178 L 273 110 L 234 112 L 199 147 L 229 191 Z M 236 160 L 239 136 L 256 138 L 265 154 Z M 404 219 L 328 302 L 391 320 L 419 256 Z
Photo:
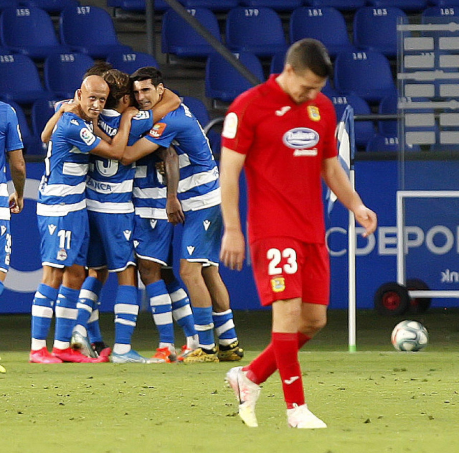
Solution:
M 245 258 L 245 240 L 239 214 L 239 175 L 245 155 L 222 147 L 220 159 L 221 212 L 224 232 L 220 260 L 230 269 L 242 269 Z

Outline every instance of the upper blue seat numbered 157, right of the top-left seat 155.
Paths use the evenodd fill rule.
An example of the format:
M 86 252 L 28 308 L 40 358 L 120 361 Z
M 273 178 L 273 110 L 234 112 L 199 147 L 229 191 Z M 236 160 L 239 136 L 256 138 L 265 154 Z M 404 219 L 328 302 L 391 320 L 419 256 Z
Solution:
M 131 52 L 119 42 L 110 14 L 97 6 L 65 8 L 59 18 L 61 41 L 73 52 L 107 58 L 113 52 Z

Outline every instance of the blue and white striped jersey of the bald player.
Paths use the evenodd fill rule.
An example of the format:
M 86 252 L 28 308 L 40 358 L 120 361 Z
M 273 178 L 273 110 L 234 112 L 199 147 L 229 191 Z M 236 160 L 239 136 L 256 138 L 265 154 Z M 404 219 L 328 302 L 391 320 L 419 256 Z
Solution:
M 73 113 L 62 115 L 48 143 L 38 189 L 38 215 L 64 216 L 86 208 L 89 153 L 99 142 L 91 123 Z

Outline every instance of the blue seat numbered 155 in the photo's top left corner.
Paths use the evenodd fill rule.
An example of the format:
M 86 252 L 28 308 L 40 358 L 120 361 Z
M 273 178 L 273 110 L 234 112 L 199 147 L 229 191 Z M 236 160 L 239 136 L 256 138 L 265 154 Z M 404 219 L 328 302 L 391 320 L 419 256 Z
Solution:
M 49 54 L 70 52 L 56 36 L 49 14 L 40 8 L 6 8 L 0 14 L 2 45 L 11 52 L 43 60 Z

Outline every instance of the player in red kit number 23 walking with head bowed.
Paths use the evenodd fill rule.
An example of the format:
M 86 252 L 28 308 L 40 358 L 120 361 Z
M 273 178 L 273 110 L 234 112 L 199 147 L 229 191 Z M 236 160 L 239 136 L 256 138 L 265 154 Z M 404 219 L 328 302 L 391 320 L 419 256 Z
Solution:
M 305 404 L 298 362 L 299 348 L 326 324 L 329 260 L 321 178 L 364 226 L 365 236 L 376 229 L 376 214 L 338 162 L 335 109 L 320 92 L 332 71 L 322 43 L 302 39 L 289 48 L 282 73 L 238 96 L 225 117 L 221 261 L 240 270 L 244 260 L 238 206 L 244 167 L 253 274 L 261 304 L 272 306 L 271 343 L 249 365 L 226 375 L 248 426 L 258 426 L 259 384 L 277 369 L 288 424 L 326 427 Z

